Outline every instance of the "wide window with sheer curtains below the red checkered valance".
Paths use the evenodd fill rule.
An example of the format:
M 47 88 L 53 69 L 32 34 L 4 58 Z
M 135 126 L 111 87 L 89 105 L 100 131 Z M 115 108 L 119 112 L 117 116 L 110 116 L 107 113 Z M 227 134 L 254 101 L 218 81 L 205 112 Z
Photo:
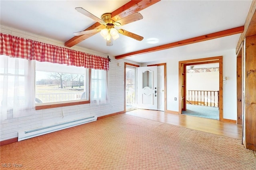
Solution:
M 108 71 L 0 56 L 2 120 L 90 101 L 92 105 L 109 101 Z

